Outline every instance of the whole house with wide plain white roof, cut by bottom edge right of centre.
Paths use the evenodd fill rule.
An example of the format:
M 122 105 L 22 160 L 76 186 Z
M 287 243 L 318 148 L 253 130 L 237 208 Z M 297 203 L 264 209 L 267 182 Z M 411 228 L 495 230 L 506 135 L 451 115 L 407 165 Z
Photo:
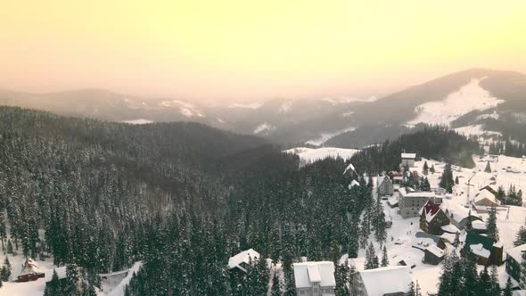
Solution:
M 353 296 L 404 296 L 413 282 L 411 268 L 404 266 L 367 269 L 350 276 Z

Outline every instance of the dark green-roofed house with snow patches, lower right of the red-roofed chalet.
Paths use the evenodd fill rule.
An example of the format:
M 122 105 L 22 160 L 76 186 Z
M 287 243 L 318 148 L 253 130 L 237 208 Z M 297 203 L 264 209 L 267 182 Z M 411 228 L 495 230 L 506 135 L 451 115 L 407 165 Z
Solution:
M 477 258 L 477 263 L 480 265 L 501 265 L 504 246 L 498 243 L 495 239 L 477 234 L 476 232 L 468 231 L 465 237 L 465 243 L 470 247 L 472 253 Z

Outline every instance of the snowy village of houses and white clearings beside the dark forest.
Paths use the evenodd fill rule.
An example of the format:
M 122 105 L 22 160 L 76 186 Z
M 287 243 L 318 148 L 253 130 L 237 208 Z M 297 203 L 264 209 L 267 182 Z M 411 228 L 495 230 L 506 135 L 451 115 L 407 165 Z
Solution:
M 399 171 L 372 178 L 374 199 L 382 201 L 388 227 L 387 242 L 383 246 L 375 244 L 374 252 L 378 255 L 387 250 L 389 264 L 366 268 L 365 250 L 360 250 L 357 258 L 343 255 L 338 264 L 348 264 L 355 270 L 350 275 L 351 295 L 406 295 L 411 284 L 417 284 L 423 295 L 436 295 L 442 260 L 466 245 L 476 256 L 478 269 L 497 267 L 502 289 L 509 278 L 514 295 L 526 294 L 526 290 L 522 290 L 526 283 L 521 280 L 522 254 L 526 252 L 526 244 L 514 245 L 515 235 L 525 226 L 526 208 L 504 205 L 497 199 L 503 187 L 515 186 L 516 192 L 522 194 L 526 185 L 526 160 L 487 155 L 475 157 L 476 167 L 473 169 L 452 166 L 456 184 L 451 193 L 439 186 L 446 163 L 421 159 L 415 153 L 406 152 L 401 153 L 401 160 Z M 344 174 L 353 171 L 354 167 L 349 164 Z M 415 190 L 407 185 L 408 179 L 425 179 L 423 184 L 429 188 L 422 190 L 421 186 L 420 190 Z M 356 180 L 349 182 L 349 188 L 355 185 L 358 185 Z M 492 210 L 497 218 L 498 240 L 487 234 Z M 10 281 L 4 283 L 3 292 L 9 292 L 11 288 L 27 295 L 41 295 L 53 277 L 59 281 L 67 277 L 66 267 L 53 267 L 50 259 L 37 262 L 24 259 L 16 252 L 4 254 L 1 259 L 4 268 L 5 264 L 10 265 Z M 228 260 L 227 269 L 230 273 L 243 275 L 252 262 L 260 259 L 256 250 L 242 251 Z M 283 277 L 281 262 L 264 260 L 271 278 L 274 275 Z M 336 267 L 332 261 L 309 261 L 308 258 L 299 261 L 292 265 L 297 295 L 335 295 Z M 137 262 L 132 268 L 99 275 L 102 289 L 97 294 L 122 295 L 123 287 L 140 266 L 141 262 Z M 16 286 L 21 284 L 25 284 L 24 289 Z M 272 280 L 269 280 L 269 291 L 271 285 Z

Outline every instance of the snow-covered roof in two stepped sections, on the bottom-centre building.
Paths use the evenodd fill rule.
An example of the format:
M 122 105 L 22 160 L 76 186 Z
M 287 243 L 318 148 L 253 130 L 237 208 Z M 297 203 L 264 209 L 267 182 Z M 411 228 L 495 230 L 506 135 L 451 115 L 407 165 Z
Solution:
M 312 283 L 319 283 L 321 287 L 333 287 L 334 264 L 331 261 L 310 261 L 294 263 L 294 282 L 296 288 L 308 288 Z

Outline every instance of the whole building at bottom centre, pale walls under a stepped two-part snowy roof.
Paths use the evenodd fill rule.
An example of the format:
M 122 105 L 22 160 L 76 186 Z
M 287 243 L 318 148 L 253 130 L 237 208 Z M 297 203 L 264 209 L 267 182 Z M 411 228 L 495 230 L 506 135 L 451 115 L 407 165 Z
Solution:
M 329 296 L 334 294 L 334 264 L 331 261 L 301 262 L 292 264 L 294 284 L 299 296 Z

